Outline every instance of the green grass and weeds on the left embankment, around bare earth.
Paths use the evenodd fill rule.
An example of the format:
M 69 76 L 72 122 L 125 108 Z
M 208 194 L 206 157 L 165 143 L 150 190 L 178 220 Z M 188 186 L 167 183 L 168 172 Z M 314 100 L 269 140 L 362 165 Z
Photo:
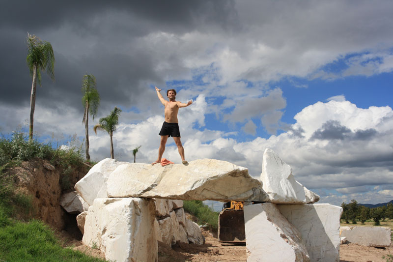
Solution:
M 13 177 L 6 170 L 31 158 L 49 160 L 62 168 L 64 176 L 83 165 L 80 150 L 67 150 L 28 141 L 17 132 L 10 139 L 0 139 L 0 261 L 5 262 L 104 262 L 70 248 L 62 248 L 54 232 L 43 222 L 30 220 L 28 196 L 15 193 Z M 68 170 L 68 171 L 67 171 Z M 36 210 L 37 211 L 37 210 Z M 24 223 L 15 218 L 23 218 Z

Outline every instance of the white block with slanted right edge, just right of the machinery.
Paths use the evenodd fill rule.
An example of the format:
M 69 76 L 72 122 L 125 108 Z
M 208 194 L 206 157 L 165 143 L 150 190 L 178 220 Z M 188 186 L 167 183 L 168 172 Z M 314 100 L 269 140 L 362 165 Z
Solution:
M 309 254 L 298 230 L 275 204 L 244 206 L 247 261 L 309 262 Z

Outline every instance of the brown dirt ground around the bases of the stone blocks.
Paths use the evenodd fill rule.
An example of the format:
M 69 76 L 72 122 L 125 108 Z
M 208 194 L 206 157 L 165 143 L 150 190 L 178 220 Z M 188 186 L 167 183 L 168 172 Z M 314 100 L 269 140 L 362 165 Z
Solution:
M 159 262 L 246 262 L 245 244 L 222 244 L 208 231 L 202 232 L 206 238 L 203 245 L 177 243 L 169 248 L 159 242 Z M 65 240 L 65 237 L 62 237 Z M 74 246 L 79 250 L 94 257 L 104 258 L 98 250 L 82 245 L 82 241 L 65 241 L 65 246 Z M 340 262 L 386 262 L 382 256 L 393 255 L 393 246 L 386 248 L 365 247 L 356 244 L 342 244 L 340 246 Z

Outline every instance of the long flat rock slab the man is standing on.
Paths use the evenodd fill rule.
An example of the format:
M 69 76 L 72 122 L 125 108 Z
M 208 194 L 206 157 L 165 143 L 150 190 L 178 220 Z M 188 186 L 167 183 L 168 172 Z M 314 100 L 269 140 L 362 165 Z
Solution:
M 248 170 L 226 161 L 199 159 L 187 166 L 165 167 L 143 163 L 119 165 L 109 175 L 108 197 L 166 198 L 174 200 L 268 200 L 261 182 Z

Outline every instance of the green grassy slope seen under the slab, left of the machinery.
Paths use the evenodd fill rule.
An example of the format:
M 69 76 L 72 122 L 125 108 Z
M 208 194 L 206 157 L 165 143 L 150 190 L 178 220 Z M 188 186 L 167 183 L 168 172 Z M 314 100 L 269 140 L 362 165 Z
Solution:
M 190 214 L 197 217 L 199 225 L 208 224 L 211 229 L 217 233 L 218 231 L 218 215 L 219 213 L 202 203 L 200 200 L 183 201 L 183 208 Z

